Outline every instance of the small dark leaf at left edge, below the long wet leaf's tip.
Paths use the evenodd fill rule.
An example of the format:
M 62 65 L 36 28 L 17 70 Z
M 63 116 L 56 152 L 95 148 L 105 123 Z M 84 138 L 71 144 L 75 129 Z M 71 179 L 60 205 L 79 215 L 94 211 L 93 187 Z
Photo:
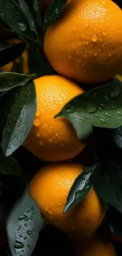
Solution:
M 3 158 L 3 161 L 0 164 L 0 173 L 8 175 L 21 175 L 20 166 L 12 157 Z

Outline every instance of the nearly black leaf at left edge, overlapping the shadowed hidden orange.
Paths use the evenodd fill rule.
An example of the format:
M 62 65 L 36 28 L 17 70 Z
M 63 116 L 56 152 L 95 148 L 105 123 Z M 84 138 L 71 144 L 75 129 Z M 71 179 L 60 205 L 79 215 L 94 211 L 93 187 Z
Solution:
M 15 43 L 0 50 L 0 66 L 18 58 L 24 51 L 25 43 Z

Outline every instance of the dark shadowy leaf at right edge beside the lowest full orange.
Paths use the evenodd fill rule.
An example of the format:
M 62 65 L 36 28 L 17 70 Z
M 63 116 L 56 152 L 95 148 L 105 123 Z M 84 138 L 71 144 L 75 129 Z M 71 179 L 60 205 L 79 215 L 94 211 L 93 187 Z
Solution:
M 102 169 L 94 181 L 94 189 L 105 206 L 108 204 L 122 213 L 122 170 L 114 161 L 102 162 Z

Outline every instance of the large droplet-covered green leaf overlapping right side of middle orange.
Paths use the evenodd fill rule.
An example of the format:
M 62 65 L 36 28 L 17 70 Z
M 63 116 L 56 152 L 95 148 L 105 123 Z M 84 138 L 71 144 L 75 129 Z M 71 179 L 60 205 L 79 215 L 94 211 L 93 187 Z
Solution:
M 109 83 L 97 87 L 91 91 L 83 93 L 73 98 L 57 114 L 56 117 L 66 117 L 74 124 L 81 122 L 76 127 L 79 139 L 84 138 L 84 127 L 82 134 L 82 124 L 88 125 L 88 132 L 92 126 L 102 128 L 118 128 L 122 124 L 122 83 L 113 79 Z M 87 131 L 87 129 L 86 129 Z M 87 135 L 87 133 L 86 133 Z

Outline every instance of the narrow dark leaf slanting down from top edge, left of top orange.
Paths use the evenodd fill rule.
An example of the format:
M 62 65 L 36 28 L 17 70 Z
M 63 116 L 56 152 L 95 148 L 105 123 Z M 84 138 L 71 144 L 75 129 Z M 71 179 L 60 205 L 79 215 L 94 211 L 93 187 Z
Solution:
M 17 2 L 20 6 L 20 9 L 22 10 L 25 17 L 27 18 L 28 23 L 30 24 L 31 31 L 35 32 L 35 34 L 36 34 L 37 31 L 36 31 L 36 27 L 35 27 L 35 19 L 31 14 L 30 9 L 28 9 L 27 3 L 24 0 L 17 0 Z

